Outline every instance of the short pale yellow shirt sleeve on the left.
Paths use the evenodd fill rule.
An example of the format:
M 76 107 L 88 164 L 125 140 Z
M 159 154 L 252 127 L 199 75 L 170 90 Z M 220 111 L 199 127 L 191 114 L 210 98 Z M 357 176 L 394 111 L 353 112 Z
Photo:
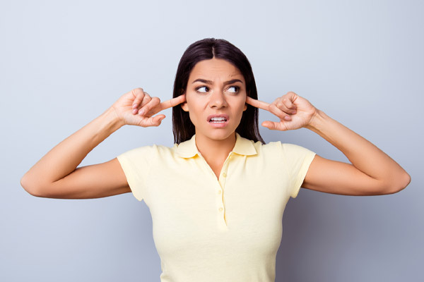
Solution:
M 124 154 L 120 154 L 117 159 L 125 173 L 131 192 L 137 200 L 143 200 L 146 192 L 146 182 L 148 180 L 151 166 L 148 160 L 152 159 L 153 147 L 139 147 L 131 149 Z

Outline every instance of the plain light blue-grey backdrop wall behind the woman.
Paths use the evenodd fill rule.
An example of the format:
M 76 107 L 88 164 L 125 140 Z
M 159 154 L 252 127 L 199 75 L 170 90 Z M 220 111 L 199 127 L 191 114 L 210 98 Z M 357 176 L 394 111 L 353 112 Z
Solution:
M 159 281 L 144 202 L 37 198 L 19 180 L 134 87 L 170 99 L 182 53 L 205 37 L 245 52 L 260 99 L 297 92 L 412 176 L 381 197 L 302 189 L 285 210 L 276 281 L 422 281 L 423 12 L 423 1 L 1 0 L 0 281 Z M 81 165 L 171 146 L 165 115 L 159 128 L 118 130 Z M 306 129 L 261 134 L 346 160 Z

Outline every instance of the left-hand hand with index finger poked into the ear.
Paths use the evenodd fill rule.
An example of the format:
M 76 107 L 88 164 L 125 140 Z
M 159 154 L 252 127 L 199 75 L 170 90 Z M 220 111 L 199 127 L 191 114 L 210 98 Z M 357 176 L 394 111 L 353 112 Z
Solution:
M 146 128 L 160 125 L 165 118 L 164 114 L 153 115 L 185 101 L 185 94 L 183 94 L 160 103 L 158 97 L 151 97 L 147 92 L 143 91 L 143 88 L 136 88 L 122 95 L 117 102 L 114 102 L 111 108 L 124 124 Z

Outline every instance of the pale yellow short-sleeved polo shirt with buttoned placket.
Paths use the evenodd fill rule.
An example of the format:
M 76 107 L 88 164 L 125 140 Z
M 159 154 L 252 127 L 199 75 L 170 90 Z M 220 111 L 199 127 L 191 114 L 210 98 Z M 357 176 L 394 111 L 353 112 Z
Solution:
M 219 179 L 191 140 L 117 157 L 151 211 L 162 282 L 273 282 L 285 204 L 314 152 L 236 134 Z

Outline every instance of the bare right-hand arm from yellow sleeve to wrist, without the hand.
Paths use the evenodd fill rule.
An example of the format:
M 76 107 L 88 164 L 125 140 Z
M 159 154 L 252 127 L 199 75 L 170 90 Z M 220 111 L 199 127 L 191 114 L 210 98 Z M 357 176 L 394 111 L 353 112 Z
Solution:
M 341 195 L 384 195 L 410 183 L 411 177 L 396 161 L 324 112 L 317 111 L 305 127 L 343 152 L 351 164 L 316 156 L 302 187 Z

